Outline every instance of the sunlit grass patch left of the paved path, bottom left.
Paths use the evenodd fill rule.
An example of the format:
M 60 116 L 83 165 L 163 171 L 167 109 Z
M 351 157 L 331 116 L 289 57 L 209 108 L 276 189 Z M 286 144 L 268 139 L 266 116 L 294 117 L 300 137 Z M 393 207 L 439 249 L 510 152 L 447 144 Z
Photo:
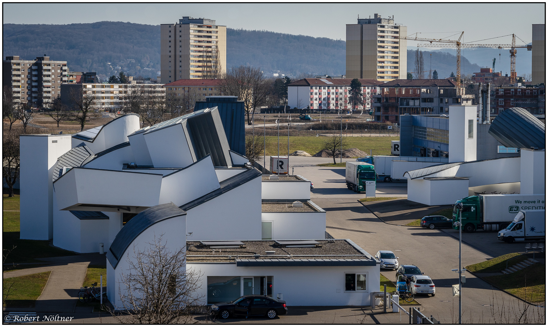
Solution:
M 36 306 L 36 300 L 42 294 L 45 284 L 48 282 L 50 271 L 26 276 L 4 279 L 4 296 L 7 287 L 12 285 L 4 305 L 7 307 L 32 308 Z

